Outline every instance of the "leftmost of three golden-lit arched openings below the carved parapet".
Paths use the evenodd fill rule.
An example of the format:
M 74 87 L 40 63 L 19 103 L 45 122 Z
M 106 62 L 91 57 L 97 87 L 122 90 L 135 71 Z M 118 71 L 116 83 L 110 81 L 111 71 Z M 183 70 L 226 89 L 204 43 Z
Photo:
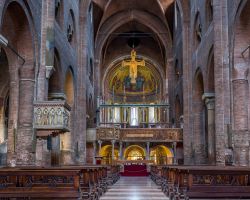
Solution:
M 112 164 L 112 145 L 105 145 L 100 150 L 100 156 L 102 157 L 102 164 L 109 165 Z M 119 151 L 114 149 L 114 160 L 118 160 Z

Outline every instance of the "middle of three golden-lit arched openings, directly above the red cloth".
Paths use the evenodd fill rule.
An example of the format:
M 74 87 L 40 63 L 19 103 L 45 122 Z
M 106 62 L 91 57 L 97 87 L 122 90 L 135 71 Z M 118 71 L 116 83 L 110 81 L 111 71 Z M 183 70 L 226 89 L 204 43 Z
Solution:
M 139 145 L 131 145 L 124 151 L 125 160 L 145 160 L 146 152 Z

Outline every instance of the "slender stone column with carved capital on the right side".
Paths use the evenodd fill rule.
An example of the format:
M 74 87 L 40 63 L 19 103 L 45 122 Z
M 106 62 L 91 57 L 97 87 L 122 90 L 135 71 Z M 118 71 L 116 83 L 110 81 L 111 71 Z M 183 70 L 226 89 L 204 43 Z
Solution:
M 215 94 L 205 93 L 203 95 L 207 108 L 207 140 L 208 140 L 208 163 L 213 165 L 215 157 Z

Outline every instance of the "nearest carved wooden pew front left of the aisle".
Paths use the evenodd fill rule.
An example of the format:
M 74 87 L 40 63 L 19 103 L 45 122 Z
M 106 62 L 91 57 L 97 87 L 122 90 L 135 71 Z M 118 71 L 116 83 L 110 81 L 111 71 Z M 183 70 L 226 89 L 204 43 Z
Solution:
M 1 169 L 0 199 L 81 199 L 80 170 Z

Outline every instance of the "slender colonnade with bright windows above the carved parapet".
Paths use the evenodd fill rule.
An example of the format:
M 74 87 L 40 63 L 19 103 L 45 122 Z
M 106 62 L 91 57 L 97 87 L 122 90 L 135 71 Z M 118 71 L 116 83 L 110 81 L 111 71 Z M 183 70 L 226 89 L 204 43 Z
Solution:
M 169 105 L 158 104 L 100 104 L 99 126 L 121 128 L 169 127 Z

